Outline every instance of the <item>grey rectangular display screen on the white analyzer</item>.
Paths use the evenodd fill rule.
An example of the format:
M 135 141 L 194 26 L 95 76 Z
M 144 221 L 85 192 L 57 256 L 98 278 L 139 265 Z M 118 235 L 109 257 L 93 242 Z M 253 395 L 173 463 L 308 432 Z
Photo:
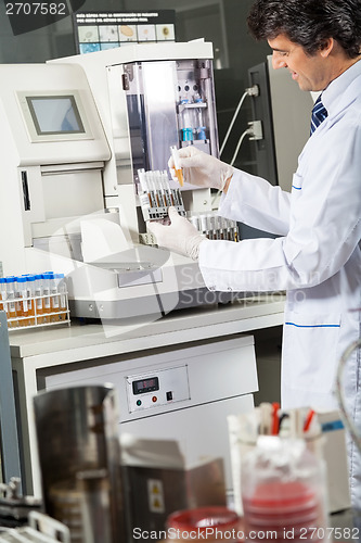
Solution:
M 75 97 L 26 97 L 28 109 L 39 136 L 56 134 L 85 134 Z

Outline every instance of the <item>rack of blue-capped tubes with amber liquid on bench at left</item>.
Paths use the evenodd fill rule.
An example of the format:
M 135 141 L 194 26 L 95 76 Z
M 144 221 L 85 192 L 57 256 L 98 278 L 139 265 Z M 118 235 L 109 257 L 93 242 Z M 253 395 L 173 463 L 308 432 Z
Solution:
M 7 313 L 9 328 L 68 320 L 64 274 L 46 272 L 0 277 L 0 311 Z

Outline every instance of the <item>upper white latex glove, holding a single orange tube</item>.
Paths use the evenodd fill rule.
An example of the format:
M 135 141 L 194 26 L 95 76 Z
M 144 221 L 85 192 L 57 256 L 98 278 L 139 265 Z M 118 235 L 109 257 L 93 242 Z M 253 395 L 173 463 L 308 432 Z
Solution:
M 215 156 L 199 151 L 194 146 L 188 146 L 178 151 L 179 166 L 183 169 L 184 181 L 197 187 L 208 187 L 223 190 L 227 179 L 232 177 L 233 167 Z M 168 161 L 172 177 L 177 180 L 172 156 Z

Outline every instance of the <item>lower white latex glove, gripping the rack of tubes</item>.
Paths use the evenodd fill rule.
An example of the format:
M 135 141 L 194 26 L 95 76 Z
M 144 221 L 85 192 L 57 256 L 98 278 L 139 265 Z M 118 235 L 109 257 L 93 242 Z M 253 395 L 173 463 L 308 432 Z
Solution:
M 147 224 L 149 230 L 156 237 L 158 247 L 196 261 L 199 254 L 199 244 L 207 238 L 199 233 L 186 218 L 181 217 L 176 207 L 169 207 L 168 215 L 170 225 Z

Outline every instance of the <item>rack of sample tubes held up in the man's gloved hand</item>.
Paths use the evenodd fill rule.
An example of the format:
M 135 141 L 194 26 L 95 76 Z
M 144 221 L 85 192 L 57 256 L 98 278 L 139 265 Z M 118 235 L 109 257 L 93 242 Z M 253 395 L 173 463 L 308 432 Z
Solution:
M 167 171 L 138 169 L 140 184 L 139 200 L 144 220 L 156 220 L 168 215 L 168 207 L 175 206 L 185 216 L 183 199 L 179 189 L 171 189 Z

